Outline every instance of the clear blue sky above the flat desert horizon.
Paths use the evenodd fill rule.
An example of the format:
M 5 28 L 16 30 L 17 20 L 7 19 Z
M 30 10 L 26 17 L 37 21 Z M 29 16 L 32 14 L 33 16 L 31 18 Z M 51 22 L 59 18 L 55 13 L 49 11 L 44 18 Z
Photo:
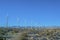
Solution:
M 10 26 L 60 26 L 60 0 L 0 0 L 0 26 L 7 14 Z

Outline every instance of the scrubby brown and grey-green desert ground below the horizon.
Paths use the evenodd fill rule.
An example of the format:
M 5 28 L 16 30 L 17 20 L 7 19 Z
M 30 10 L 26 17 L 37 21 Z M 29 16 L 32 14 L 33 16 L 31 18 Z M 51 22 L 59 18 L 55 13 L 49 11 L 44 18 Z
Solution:
M 60 29 L 0 28 L 0 40 L 8 35 L 8 40 L 60 40 Z

